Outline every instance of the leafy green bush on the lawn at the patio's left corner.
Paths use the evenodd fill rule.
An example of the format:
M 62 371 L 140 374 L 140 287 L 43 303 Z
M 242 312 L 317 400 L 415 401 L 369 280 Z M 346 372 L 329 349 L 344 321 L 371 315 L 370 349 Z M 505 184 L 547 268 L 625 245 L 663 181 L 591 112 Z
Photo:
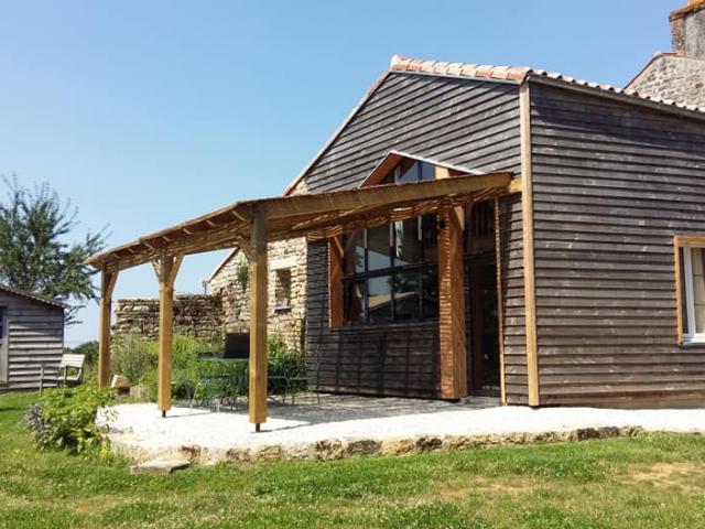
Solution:
M 96 417 L 98 409 L 108 406 L 110 400 L 109 390 L 93 384 L 75 389 L 48 389 L 28 411 L 25 424 L 39 449 L 55 447 L 82 453 L 102 441 Z

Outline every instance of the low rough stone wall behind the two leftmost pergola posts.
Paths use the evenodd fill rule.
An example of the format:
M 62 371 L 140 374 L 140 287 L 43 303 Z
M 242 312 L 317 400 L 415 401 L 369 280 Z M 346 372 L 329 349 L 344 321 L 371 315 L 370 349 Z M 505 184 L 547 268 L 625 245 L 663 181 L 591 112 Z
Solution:
M 117 337 L 139 334 L 145 339 L 159 337 L 159 300 L 129 298 L 118 300 L 112 334 Z M 223 339 L 223 304 L 218 295 L 182 294 L 174 298 L 174 334 L 188 334 L 204 342 Z

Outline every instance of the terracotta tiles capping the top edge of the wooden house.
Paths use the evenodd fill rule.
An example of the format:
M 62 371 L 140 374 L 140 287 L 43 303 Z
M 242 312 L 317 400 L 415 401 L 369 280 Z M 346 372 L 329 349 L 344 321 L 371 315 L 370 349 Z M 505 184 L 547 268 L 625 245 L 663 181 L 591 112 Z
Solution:
M 705 2 L 705 0 L 703 0 Z M 441 61 L 423 61 L 419 58 L 409 58 L 394 55 L 390 65 L 392 72 L 419 72 L 425 74 L 447 75 L 453 77 L 474 77 L 480 79 L 498 79 L 523 83 L 529 77 L 545 77 L 555 79 L 571 85 L 585 86 L 596 90 L 608 91 L 612 94 L 621 94 L 629 97 L 636 97 L 647 101 L 669 105 L 672 107 L 683 108 L 705 112 L 705 107 L 696 107 L 693 105 L 683 105 L 670 99 L 659 99 L 648 95 L 641 95 L 633 88 L 618 88 L 611 85 L 592 83 L 584 79 L 576 79 L 570 75 L 563 75 L 557 72 L 546 72 L 545 69 L 535 69 L 528 66 L 494 66 L 489 64 L 473 63 L 447 63 Z

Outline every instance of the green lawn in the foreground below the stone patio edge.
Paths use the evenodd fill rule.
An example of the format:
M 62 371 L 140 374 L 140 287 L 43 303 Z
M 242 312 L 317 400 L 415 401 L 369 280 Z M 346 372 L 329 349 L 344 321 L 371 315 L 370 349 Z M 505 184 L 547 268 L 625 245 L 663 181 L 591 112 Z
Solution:
M 21 425 L 33 399 L 0 396 L 0 528 L 705 527 L 697 435 L 131 476 L 36 452 Z

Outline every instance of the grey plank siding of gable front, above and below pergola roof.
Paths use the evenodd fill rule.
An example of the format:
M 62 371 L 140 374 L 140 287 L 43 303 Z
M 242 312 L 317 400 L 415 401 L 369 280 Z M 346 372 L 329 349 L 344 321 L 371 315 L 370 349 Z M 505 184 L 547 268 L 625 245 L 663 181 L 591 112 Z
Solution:
M 390 74 L 305 175 L 308 192 L 355 188 L 395 149 L 478 170 L 519 172 L 519 87 Z M 500 201 L 508 402 L 525 402 L 521 203 Z M 440 396 L 438 324 L 328 326 L 327 247 L 308 246 L 306 344 L 322 390 Z M 523 342 L 522 342 L 523 339 Z

